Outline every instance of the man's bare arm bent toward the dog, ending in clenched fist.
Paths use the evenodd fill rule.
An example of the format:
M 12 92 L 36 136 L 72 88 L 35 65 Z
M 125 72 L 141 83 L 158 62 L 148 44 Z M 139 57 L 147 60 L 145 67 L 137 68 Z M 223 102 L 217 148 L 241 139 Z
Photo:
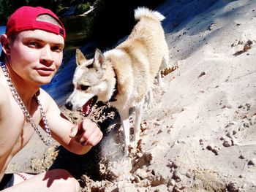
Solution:
M 89 119 L 73 125 L 61 116 L 59 107 L 45 91 L 40 90 L 39 100 L 46 101 L 43 107 L 54 139 L 72 153 L 84 154 L 102 139 L 102 131 Z M 44 124 L 40 123 L 44 127 Z

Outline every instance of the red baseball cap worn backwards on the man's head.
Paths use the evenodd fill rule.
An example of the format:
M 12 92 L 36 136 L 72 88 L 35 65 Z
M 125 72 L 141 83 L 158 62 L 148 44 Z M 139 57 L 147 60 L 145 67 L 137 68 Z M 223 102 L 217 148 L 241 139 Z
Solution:
M 50 15 L 55 18 L 61 27 L 56 26 L 53 23 L 48 23 L 42 20 L 37 20 L 39 15 Z M 43 31 L 48 31 L 53 34 L 59 34 L 64 39 L 66 39 L 66 31 L 57 17 L 50 9 L 45 9 L 42 7 L 29 7 L 24 6 L 17 9 L 9 18 L 6 27 L 6 34 L 10 37 L 15 32 L 41 29 Z

